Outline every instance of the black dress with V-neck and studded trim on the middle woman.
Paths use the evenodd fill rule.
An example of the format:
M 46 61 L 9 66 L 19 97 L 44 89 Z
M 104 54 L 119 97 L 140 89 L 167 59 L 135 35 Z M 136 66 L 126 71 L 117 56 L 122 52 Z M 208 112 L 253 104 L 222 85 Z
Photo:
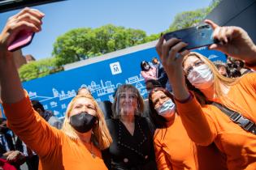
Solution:
M 135 117 L 134 134 L 119 119 L 107 120 L 113 142 L 102 151 L 106 166 L 112 170 L 154 170 L 154 130 L 145 117 Z

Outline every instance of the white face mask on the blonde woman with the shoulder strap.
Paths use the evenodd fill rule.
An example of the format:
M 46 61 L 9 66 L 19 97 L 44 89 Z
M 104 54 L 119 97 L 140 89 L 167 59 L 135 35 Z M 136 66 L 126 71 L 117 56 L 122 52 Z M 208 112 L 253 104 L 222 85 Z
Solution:
M 188 75 L 189 82 L 198 89 L 207 89 L 214 83 L 214 76 L 206 64 L 193 67 Z

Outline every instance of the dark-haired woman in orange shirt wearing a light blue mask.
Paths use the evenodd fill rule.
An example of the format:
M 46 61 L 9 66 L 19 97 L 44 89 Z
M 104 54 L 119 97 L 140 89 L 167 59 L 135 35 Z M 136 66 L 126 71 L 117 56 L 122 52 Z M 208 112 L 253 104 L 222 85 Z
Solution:
M 150 118 L 157 128 L 154 148 L 158 170 L 227 169 L 225 156 L 214 144 L 200 147 L 189 138 L 173 101 L 171 93 L 162 87 L 154 88 L 149 95 Z

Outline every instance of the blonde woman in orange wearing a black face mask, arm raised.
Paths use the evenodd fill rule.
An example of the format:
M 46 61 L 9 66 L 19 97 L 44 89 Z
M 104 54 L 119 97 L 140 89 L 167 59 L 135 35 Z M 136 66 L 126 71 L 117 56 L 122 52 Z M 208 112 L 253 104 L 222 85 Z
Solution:
M 41 30 L 44 15 L 25 8 L 7 21 L 0 34 L 0 83 L 7 124 L 40 157 L 39 169 L 107 169 L 101 151 L 111 144 L 103 113 L 92 96 L 76 96 L 68 105 L 62 130 L 51 127 L 24 92 L 13 53 L 7 46 L 20 30 Z

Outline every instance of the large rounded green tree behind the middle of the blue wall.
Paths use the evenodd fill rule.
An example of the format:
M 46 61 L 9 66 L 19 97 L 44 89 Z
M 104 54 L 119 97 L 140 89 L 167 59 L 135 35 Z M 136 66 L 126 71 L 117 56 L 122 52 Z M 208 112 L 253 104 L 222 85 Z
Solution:
M 145 42 L 144 31 L 108 24 L 101 28 L 77 28 L 54 43 L 57 66 L 77 62 Z

